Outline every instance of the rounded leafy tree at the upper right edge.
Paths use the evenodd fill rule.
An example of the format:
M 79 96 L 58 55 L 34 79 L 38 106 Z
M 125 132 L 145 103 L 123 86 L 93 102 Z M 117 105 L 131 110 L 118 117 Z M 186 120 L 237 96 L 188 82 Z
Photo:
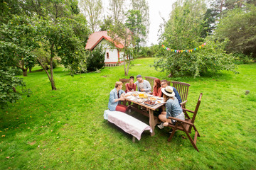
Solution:
M 256 6 L 246 4 L 221 18 L 215 30 L 218 38 L 228 38 L 228 52 L 243 53 L 256 58 Z

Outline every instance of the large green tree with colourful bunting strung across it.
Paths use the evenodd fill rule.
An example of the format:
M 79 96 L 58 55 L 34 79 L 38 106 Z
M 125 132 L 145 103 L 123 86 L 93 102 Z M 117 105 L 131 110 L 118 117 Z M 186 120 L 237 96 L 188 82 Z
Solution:
M 171 52 L 161 48 L 156 53 L 159 57 L 154 62 L 156 69 L 168 72 L 171 77 L 198 77 L 203 72 L 234 69 L 233 57 L 223 49 L 224 42 L 212 37 L 201 38 L 205 12 L 206 4 L 203 1 L 177 1 L 174 4 L 170 19 L 164 26 L 161 43 L 170 49 L 184 51 Z M 186 52 L 194 47 L 201 47 L 203 42 L 207 44 L 200 51 Z

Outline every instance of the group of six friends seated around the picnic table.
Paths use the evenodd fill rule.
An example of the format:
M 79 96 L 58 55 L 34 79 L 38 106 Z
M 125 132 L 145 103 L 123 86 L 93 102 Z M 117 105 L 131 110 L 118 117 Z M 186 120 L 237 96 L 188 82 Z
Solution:
M 121 111 L 124 113 L 128 111 L 127 106 L 122 105 L 120 102 L 124 101 L 124 95 L 127 92 L 136 91 L 136 89 L 139 92 L 151 92 L 151 85 L 149 84 L 149 81 L 142 79 L 142 75 L 137 75 L 136 78 L 137 81 L 134 83 L 134 77 L 129 77 L 129 83 L 125 84 L 125 91 L 122 90 L 123 84 L 121 81 L 117 81 L 114 84 L 114 89 L 110 91 L 110 100 L 108 103 L 110 111 Z M 161 111 L 159 119 L 162 121 L 162 123 L 158 125 L 160 129 L 168 126 L 169 123 L 176 123 L 175 120 L 168 119 L 169 116 L 185 120 L 185 115 L 180 105 L 182 102 L 181 96 L 174 87 L 168 86 L 166 80 L 160 81 L 160 79 L 154 79 L 153 95 L 163 97 L 164 102 L 166 102 L 166 111 L 161 111 L 161 108 L 159 108 L 159 111 Z

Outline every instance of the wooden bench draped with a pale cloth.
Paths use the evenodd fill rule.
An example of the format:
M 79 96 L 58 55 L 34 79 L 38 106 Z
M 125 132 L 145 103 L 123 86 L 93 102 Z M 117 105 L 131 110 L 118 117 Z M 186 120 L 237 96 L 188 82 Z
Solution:
M 153 132 L 149 125 L 146 125 L 146 123 L 143 123 L 142 121 L 137 120 L 137 118 L 127 115 L 126 113 L 106 110 L 104 112 L 104 118 L 110 123 L 117 125 L 119 128 L 124 130 L 124 132 L 131 134 L 132 142 L 135 142 L 135 137 L 137 140 L 140 140 L 144 130 Z

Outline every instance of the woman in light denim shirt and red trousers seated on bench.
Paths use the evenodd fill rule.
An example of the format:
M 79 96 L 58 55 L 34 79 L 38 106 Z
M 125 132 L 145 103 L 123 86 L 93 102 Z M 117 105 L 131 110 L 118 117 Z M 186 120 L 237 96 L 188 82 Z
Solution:
M 108 103 L 110 111 L 121 111 L 124 113 L 127 111 L 127 106 L 120 103 L 120 101 L 124 101 L 124 94 L 125 92 L 122 90 L 122 82 L 117 81 L 114 84 L 114 89 L 110 91 L 110 100 Z

